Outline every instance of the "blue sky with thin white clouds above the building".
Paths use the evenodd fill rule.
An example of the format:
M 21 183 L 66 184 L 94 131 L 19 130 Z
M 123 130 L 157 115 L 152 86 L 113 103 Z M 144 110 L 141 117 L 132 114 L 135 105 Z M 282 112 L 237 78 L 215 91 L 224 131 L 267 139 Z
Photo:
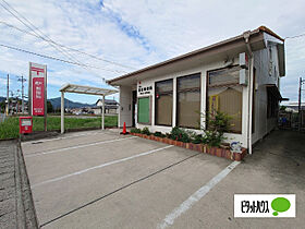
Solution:
M 15 75 L 23 74 L 27 79 L 29 61 L 48 65 L 48 97 L 53 98 L 60 96 L 59 88 L 65 83 L 103 86 L 102 79 L 120 76 L 260 25 L 282 37 L 305 33 L 305 2 L 295 0 L 235 0 L 230 4 L 221 0 L 8 2 L 53 41 L 107 61 L 66 49 L 62 53 L 62 49 L 12 28 L 39 33 L 28 29 L 0 5 L 0 44 L 90 65 L 72 65 L 0 47 L 0 96 L 5 95 L 8 73 L 12 75 L 11 89 L 14 93 L 21 89 Z M 297 99 L 298 77 L 305 77 L 304 41 L 304 36 L 285 40 L 286 76 L 282 79 L 281 93 L 291 100 Z M 83 103 L 97 99 L 74 94 L 66 97 Z

